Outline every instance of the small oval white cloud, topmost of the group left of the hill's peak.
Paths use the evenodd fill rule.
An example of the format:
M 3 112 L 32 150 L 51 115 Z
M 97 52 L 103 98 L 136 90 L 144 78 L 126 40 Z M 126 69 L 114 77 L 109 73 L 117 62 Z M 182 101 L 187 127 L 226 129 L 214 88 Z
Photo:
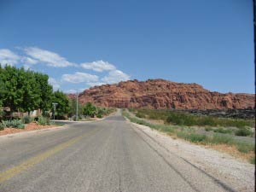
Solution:
M 81 67 L 84 69 L 91 69 L 96 72 L 103 72 L 103 71 L 113 71 L 115 67 L 108 63 L 108 61 L 93 61 L 93 62 L 85 62 L 81 64 Z

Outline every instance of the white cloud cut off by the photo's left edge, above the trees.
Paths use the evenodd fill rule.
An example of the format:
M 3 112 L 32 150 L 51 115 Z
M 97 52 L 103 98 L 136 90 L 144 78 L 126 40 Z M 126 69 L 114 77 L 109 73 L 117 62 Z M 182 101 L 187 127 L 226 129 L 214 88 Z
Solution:
M 11 66 L 15 65 L 20 60 L 20 56 L 16 55 L 9 49 L 0 49 L 0 63 L 5 65 L 9 64 Z

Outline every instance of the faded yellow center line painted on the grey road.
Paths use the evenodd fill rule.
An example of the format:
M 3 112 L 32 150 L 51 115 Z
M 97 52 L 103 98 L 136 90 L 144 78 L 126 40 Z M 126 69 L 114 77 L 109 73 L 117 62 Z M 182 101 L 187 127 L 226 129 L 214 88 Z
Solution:
M 96 131 L 97 130 L 90 131 L 89 133 L 85 133 L 84 135 L 81 135 L 79 137 L 74 137 L 73 139 L 70 139 L 65 143 L 61 143 L 61 144 L 55 146 L 54 148 L 50 148 L 49 150 L 45 151 L 42 154 L 38 154 L 37 156 L 34 156 L 28 160 L 23 161 L 18 166 L 14 166 L 4 172 L 0 172 L 0 183 L 3 183 L 4 181 L 8 180 L 11 177 L 14 177 L 18 173 L 25 171 L 29 167 L 40 163 L 41 161 L 47 159 L 48 157 L 58 153 L 59 151 L 63 150 L 64 148 L 67 148 L 68 146 L 72 145 L 73 143 L 77 143 L 82 138 L 93 135 L 93 133 L 95 133 Z

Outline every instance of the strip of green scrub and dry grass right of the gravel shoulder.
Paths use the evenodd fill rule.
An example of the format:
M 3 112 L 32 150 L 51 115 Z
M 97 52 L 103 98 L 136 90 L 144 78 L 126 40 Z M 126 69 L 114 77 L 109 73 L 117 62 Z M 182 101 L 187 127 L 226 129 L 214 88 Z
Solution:
M 197 124 L 195 122 L 195 119 L 191 118 L 190 116 L 189 118 L 193 119 L 193 124 L 189 124 L 190 126 L 188 124 L 184 125 L 183 122 L 185 120 L 183 120 L 182 122 L 182 118 L 185 117 L 186 119 L 186 117 L 188 116 L 183 114 L 173 114 L 174 112 L 172 112 L 172 114 L 170 115 L 170 113 L 166 111 L 154 111 L 151 109 L 130 110 L 132 113 L 130 113 L 129 111 L 123 111 L 123 115 L 127 119 L 130 119 L 133 123 L 137 123 L 139 125 L 146 125 L 154 130 L 166 132 L 166 134 L 169 136 L 182 138 L 191 143 L 212 146 L 213 148 L 216 148 L 218 146 L 222 146 L 222 148 L 232 148 L 232 150 L 228 151 L 230 154 L 236 154 L 239 157 L 247 159 L 251 163 L 255 163 L 255 143 L 242 141 L 235 137 L 235 135 L 251 137 L 253 135 L 253 132 L 247 128 L 247 126 L 252 125 L 251 121 L 238 121 L 238 124 L 234 124 L 234 122 L 237 122 L 236 119 L 234 119 L 234 122 L 232 122 L 233 119 L 228 119 L 228 123 L 226 123 L 225 125 L 238 125 L 235 128 L 236 131 L 233 131 L 233 129 L 230 129 L 228 127 L 218 127 L 218 124 L 216 125 L 217 127 L 214 127 L 215 124 L 212 124 L 212 126 L 209 126 L 208 123 L 201 124 L 201 122 Z M 177 117 L 178 120 L 172 119 L 174 116 Z M 152 122 L 148 119 L 162 120 L 164 123 L 154 123 L 154 121 Z M 196 119 L 204 118 L 196 117 Z M 223 122 L 225 121 L 225 119 L 213 119 L 213 121 L 222 122 L 222 126 L 224 126 Z M 205 131 L 198 131 L 195 125 L 207 125 L 207 127 L 205 127 Z M 211 131 L 212 134 L 207 134 L 207 132 L 209 131 Z

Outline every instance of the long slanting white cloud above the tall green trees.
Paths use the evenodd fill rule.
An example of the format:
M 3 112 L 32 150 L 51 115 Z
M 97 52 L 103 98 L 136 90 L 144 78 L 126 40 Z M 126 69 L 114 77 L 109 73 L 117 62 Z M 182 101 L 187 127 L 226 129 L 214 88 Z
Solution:
M 77 64 L 67 61 L 66 58 L 54 52 L 36 47 L 29 47 L 24 49 L 26 55 L 31 56 L 33 59 L 45 63 L 50 67 L 70 67 L 77 66 Z

